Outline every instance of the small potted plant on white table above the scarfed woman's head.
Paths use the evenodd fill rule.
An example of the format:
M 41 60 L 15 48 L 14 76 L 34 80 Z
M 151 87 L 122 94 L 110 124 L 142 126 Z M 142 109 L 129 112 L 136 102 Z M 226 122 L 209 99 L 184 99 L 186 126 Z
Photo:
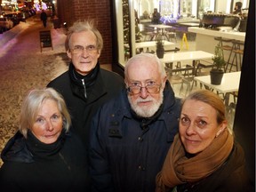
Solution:
M 213 67 L 210 71 L 211 84 L 221 84 L 222 77 L 224 75 L 224 67 L 226 61 L 220 47 L 220 43 L 215 46 L 213 60 Z

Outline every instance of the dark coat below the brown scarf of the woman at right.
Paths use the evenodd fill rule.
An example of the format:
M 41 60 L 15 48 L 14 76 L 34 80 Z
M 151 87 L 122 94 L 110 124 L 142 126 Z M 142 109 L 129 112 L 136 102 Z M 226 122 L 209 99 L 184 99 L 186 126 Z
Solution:
M 200 167 L 198 167 L 200 169 Z M 228 160 L 212 175 L 196 183 L 177 187 L 178 192 L 248 192 L 254 191 L 245 172 L 244 150 L 238 143 L 228 156 Z

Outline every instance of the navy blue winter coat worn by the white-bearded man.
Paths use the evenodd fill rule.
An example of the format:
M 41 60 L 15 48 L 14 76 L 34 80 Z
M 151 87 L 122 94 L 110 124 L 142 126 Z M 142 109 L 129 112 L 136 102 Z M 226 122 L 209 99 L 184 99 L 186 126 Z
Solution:
M 111 100 L 92 125 L 90 160 L 93 191 L 153 192 L 178 132 L 180 100 L 169 82 L 162 113 L 151 122 L 132 116 L 126 92 Z

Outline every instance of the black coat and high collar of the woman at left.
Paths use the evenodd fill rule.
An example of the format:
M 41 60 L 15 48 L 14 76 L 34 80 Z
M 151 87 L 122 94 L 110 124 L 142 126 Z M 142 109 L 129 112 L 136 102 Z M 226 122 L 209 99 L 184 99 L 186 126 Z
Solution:
M 52 144 L 44 144 L 28 131 L 17 132 L 1 154 L 1 192 L 89 191 L 86 150 L 73 132 L 62 132 Z

